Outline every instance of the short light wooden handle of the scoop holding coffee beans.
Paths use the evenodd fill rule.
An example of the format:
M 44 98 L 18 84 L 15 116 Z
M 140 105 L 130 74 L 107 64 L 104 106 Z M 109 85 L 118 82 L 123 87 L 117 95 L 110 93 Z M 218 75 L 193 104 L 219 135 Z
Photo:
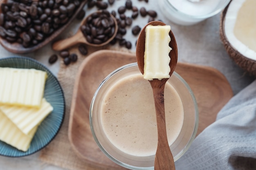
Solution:
M 61 51 L 70 48 L 71 46 L 74 46 L 78 43 L 87 43 L 85 37 L 83 36 L 83 33 L 80 30 L 77 31 L 77 33 L 70 38 L 54 42 L 54 44 L 52 45 L 52 49 L 55 51 Z

